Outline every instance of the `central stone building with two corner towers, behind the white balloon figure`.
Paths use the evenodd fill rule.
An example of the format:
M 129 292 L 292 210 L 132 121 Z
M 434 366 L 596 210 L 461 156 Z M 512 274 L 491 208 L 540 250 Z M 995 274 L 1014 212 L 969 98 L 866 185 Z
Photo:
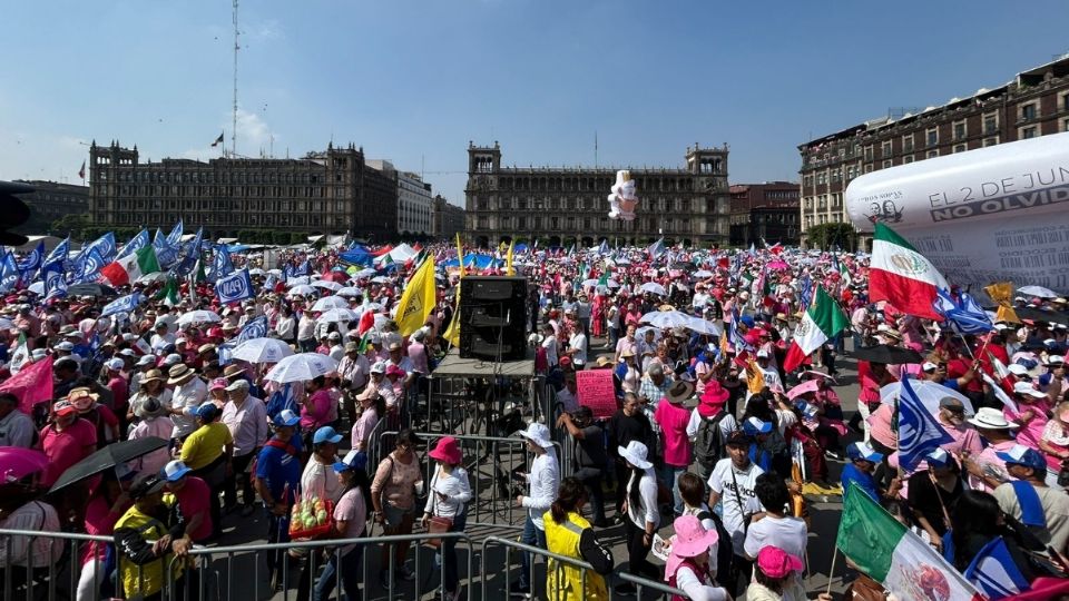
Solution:
M 551 246 L 728 240 L 728 149 L 687 148 L 686 168 L 635 169 L 639 205 L 632 221 L 608 218 L 617 168 L 502 167 L 501 147 L 468 145 L 465 230 L 497 245 L 542 239 Z

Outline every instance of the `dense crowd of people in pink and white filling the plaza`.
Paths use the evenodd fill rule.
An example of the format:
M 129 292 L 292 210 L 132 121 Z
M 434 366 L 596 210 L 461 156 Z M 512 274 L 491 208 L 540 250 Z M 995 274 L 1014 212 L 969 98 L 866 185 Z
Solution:
M 290 541 L 302 499 L 330 501 L 323 539 L 370 536 L 375 528 L 386 535 L 463 532 L 477 474 L 465 470 L 461 444 L 435 437 L 425 472 L 422 437 L 405 428 L 428 411 L 425 376 L 450 347 L 463 275 L 450 266 L 451 245 L 423 250 L 424 260 L 438 262 L 438 304 L 411 332 L 395 312 L 418 260 L 359 272 L 333 250 L 285 255 L 283 265 L 235 256 L 256 292 L 232 304 L 195 278 L 179 282 L 177 295 L 163 294 L 164 282 L 135 283 L 145 300 L 105 316 L 115 296 L 46 302 L 10 292 L 0 305 L 4 380 L 40 362 L 50 371 L 47 400 L 31 398 L 26 383 L 0 392 L 0 447 L 46 459 L 0 483 L 0 529 L 111 536 L 71 558 L 80 566 L 78 599 L 195 591 L 190 549 L 216 543 L 224 524 L 241 526 L 255 512 L 268 542 Z M 529 249 L 514 266 L 508 260 L 487 272 L 528 278 L 528 343 L 558 407 L 540 417 L 528 408 L 530 423 L 518 433 L 530 457 L 514 474 L 523 492 L 511 500 L 527 512 L 520 541 L 592 566 L 582 573 L 550 560 L 547 581 L 536 583 L 537 558 L 523 553 L 511 593 L 545 587 L 550 599 L 605 599 L 605 574 L 622 569 L 694 600 L 806 599 L 813 538 L 805 493 L 814 486 L 870 495 L 958 570 L 1001 536 L 1029 580 L 1065 574 L 1065 298 L 1017 300 L 1051 321 L 999 322 L 962 336 L 869 303 L 863 255 Z M 298 263 L 322 275 L 286 282 L 273 272 L 292 273 Z M 304 286 L 334 280 L 359 294 Z M 816 286 L 850 325 L 788 372 L 794 328 Z M 356 318 L 324 318 L 327 309 L 313 307 L 327 297 Z M 264 329 L 248 337 L 257 324 Z M 333 368 L 279 381 L 274 362 L 234 357 L 238 341 L 264 337 L 330 357 Z M 881 345 L 920 357 L 859 361 L 852 415 L 836 392 L 847 338 L 852 352 Z M 583 404 L 577 373 L 585 370 L 611 372 L 611 415 Z M 898 461 L 895 403 L 881 392 L 906 377 L 945 391 L 932 417 L 952 439 L 911 470 Z M 384 430 L 400 433 L 376 435 Z M 164 444 L 49 492 L 90 454 L 145 440 Z M 626 558 L 612 556 L 610 533 L 622 533 Z M 39 580 L 61 561 L 48 539 L 11 542 L 0 545 L 8 585 Z M 339 580 L 340 594 L 360 599 L 367 587 L 414 578 L 409 544 L 379 544 L 380 571 L 362 582 L 365 546 L 268 553 L 269 583 L 283 585 L 283 562 L 300 569 L 298 594 L 312 599 L 330 598 Z M 441 597 L 459 599 L 457 539 L 435 546 Z M 312 561 L 311 553 L 321 555 Z M 651 561 L 658 554 L 664 559 Z M 887 598 L 877 582 L 853 575 L 855 598 Z M 621 581 L 614 592 L 636 588 Z

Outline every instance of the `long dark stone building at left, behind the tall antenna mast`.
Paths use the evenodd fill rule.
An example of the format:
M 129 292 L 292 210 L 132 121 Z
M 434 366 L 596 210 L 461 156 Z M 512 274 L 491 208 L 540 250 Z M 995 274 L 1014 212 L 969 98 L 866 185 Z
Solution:
M 241 230 L 396 234 L 396 179 L 364 161 L 363 149 L 328 146 L 300 159 L 216 158 L 140 162 L 137 147 L 89 148 L 89 216 L 107 227 L 186 229 L 213 237 Z

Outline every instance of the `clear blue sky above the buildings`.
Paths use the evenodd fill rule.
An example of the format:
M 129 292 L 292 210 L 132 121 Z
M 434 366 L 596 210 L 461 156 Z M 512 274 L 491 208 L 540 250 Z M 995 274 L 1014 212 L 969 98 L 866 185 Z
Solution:
M 224 0 L 6 2 L 0 179 L 77 180 L 82 142 L 207 159 L 231 135 Z M 1069 51 L 1063 0 L 246 1 L 239 154 L 361 145 L 463 204 L 468 140 L 507 165 L 796 179 L 796 146 L 1004 83 Z M 17 26 L 16 26 L 17 23 Z

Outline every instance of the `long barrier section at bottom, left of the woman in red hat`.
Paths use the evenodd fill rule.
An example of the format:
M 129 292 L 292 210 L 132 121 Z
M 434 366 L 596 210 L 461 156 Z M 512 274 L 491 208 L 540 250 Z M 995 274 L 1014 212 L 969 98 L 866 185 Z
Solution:
M 434 589 L 443 590 L 445 587 L 445 572 L 441 569 L 438 561 L 439 552 L 429 549 L 422 544 L 415 546 L 413 553 L 414 578 L 411 585 L 402 585 L 398 582 L 400 565 L 395 563 L 394 554 L 391 552 L 389 564 L 379 565 L 381 570 L 386 570 L 388 585 L 383 587 L 377 575 L 372 572 L 373 563 L 381 563 L 375 549 L 382 545 L 393 545 L 400 543 L 423 543 L 432 539 L 441 539 L 442 546 L 445 548 L 449 541 L 453 541 L 452 552 L 460 553 L 460 544 L 463 544 L 467 551 L 467 572 L 460 572 L 460 562 L 458 562 L 457 580 L 458 587 L 464 582 L 473 587 L 477 578 L 474 569 L 474 546 L 470 536 L 464 532 L 445 533 L 420 533 L 403 534 L 391 536 L 362 536 L 359 539 L 332 539 L 322 541 L 301 541 L 274 544 L 243 544 L 235 546 L 218 548 L 194 548 L 186 560 L 174 560 L 167 569 L 167 580 L 173 582 L 176 565 L 178 561 L 189 561 L 192 568 L 198 573 L 197 578 L 184 579 L 185 590 L 182 595 L 178 591 L 169 591 L 164 595 L 164 601 L 170 601 L 178 598 L 190 599 L 190 593 L 196 588 L 196 598 L 200 601 L 227 600 L 227 601 L 259 601 L 271 595 L 281 594 L 283 601 L 291 599 L 315 599 L 317 591 L 328 597 L 335 594 L 337 599 L 342 598 L 342 592 L 349 595 L 349 599 L 372 599 L 372 593 L 386 593 L 386 599 L 404 598 L 420 599 L 429 591 Z M 351 591 L 343 588 L 344 577 L 350 575 L 342 566 L 342 548 L 355 545 L 349 553 L 360 553 L 359 581 L 361 591 Z M 303 550 L 304 559 L 301 561 L 290 560 L 291 551 Z M 430 552 L 430 553 L 428 553 Z M 277 578 L 277 584 L 281 592 L 273 588 L 274 582 L 262 578 L 266 570 L 264 568 L 264 558 L 266 553 L 276 553 L 282 555 L 282 572 Z M 349 553 L 345 554 L 347 560 Z M 430 556 L 428 556 L 430 555 Z M 298 563 L 291 566 L 291 561 Z M 327 565 L 332 565 L 327 572 Z M 351 569 L 351 566 L 350 566 Z M 434 572 L 438 572 L 437 577 Z M 294 573 L 296 572 L 296 573 Z M 252 578 L 249 578 L 252 577 Z M 268 574 L 268 579 L 269 579 Z M 412 587 L 414 590 L 409 590 Z M 404 590 L 402 590 L 404 589 Z M 264 593 L 269 594 L 265 595 Z

